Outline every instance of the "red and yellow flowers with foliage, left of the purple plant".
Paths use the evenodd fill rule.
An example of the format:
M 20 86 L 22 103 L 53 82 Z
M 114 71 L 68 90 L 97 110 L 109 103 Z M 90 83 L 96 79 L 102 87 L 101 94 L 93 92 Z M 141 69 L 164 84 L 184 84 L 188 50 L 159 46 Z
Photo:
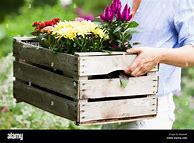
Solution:
M 96 52 L 105 49 L 108 35 L 95 22 L 84 19 L 59 21 L 58 19 L 34 22 L 38 41 L 55 52 Z

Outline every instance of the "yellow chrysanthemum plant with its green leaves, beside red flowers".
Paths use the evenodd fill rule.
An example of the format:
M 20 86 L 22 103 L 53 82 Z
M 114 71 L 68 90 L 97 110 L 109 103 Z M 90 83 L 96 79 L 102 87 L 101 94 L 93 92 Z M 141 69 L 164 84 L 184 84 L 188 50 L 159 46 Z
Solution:
M 91 21 L 59 22 L 51 30 L 50 41 L 53 50 L 74 52 L 103 51 L 108 35 Z

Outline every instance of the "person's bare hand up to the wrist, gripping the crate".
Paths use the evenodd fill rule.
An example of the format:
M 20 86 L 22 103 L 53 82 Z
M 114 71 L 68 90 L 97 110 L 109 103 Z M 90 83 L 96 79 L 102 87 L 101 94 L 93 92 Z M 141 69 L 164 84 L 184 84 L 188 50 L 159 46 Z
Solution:
M 141 76 L 157 66 L 162 59 L 162 49 L 159 48 L 131 48 L 127 53 L 138 54 L 134 62 L 125 70 L 133 76 Z

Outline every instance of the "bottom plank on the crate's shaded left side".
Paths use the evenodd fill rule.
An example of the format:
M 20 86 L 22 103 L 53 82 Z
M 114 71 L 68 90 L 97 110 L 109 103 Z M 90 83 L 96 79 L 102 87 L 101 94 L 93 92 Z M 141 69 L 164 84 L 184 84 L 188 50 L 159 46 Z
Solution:
M 65 98 L 41 91 L 18 81 L 14 82 L 14 97 L 61 117 L 77 120 L 77 103 Z

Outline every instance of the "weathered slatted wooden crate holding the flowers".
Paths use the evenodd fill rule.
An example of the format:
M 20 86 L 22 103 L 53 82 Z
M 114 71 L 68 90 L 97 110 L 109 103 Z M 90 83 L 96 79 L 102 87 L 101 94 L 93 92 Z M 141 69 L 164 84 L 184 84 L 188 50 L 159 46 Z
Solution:
M 119 77 L 136 55 L 113 52 L 53 53 L 30 37 L 13 41 L 14 97 L 77 124 L 128 122 L 157 114 L 157 67 L 130 77 L 126 88 Z

